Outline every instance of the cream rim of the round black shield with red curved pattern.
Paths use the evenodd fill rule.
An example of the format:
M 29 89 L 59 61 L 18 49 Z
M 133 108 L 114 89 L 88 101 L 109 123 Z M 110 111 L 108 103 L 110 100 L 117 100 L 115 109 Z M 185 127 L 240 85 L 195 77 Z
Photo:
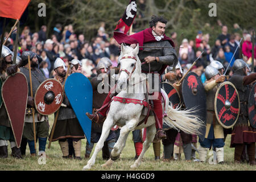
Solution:
M 217 118 L 218 123 L 220 123 L 220 125 L 221 125 L 222 127 L 224 127 L 225 129 L 231 129 L 234 125 L 236 125 L 237 119 L 239 118 L 239 114 L 240 114 L 240 97 L 239 97 L 239 94 L 238 94 L 238 92 L 237 92 L 237 98 L 238 98 L 238 114 L 237 114 L 237 116 L 238 116 L 238 117 L 236 118 L 236 121 L 234 121 L 234 123 L 233 123 L 232 125 L 230 125 L 230 126 L 224 125 L 224 124 L 220 121 L 220 118 L 218 118 L 217 105 L 216 105 L 216 104 L 217 104 L 218 92 L 220 92 L 220 89 L 222 88 L 222 86 L 224 86 L 224 85 L 226 85 L 226 84 L 233 86 L 233 88 L 234 88 L 234 89 L 236 90 L 236 92 L 237 92 L 236 86 L 234 86 L 234 84 L 232 84 L 232 82 L 230 82 L 230 81 L 222 82 L 222 83 L 220 84 L 220 86 L 218 86 L 217 92 L 216 92 L 216 94 L 215 94 L 215 98 L 214 98 L 214 113 L 215 113 L 215 116 L 216 116 L 216 118 Z

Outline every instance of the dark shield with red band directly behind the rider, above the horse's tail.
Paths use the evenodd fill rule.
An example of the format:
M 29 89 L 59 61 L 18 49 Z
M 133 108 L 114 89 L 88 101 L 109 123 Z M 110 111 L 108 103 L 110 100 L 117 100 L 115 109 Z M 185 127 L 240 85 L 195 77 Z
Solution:
M 168 82 L 162 82 L 161 88 L 167 93 L 169 102 L 171 102 L 172 107 L 175 109 L 181 102 L 179 92 L 177 92 L 177 89 L 174 87 L 174 85 Z

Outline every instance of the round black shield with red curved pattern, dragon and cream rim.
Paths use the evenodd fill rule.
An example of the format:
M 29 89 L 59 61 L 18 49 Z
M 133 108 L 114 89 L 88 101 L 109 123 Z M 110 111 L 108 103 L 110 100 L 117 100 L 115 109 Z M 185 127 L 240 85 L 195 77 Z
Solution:
M 240 100 L 232 82 L 220 84 L 215 94 L 214 111 L 220 125 L 225 129 L 232 128 L 240 113 Z

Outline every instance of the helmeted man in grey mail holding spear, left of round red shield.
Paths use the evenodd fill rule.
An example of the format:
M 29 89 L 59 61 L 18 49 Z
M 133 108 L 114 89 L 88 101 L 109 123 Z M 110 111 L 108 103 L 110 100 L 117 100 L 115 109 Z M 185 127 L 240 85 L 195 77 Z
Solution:
M 22 60 L 19 63 L 20 72 L 24 73 L 27 78 L 28 86 L 30 85 L 30 73 L 28 65 L 28 56 L 30 56 L 31 66 L 31 81 L 32 81 L 32 92 L 35 96 L 36 90 L 39 85 L 46 80 L 43 73 L 38 69 L 38 56 L 32 51 L 22 52 Z M 28 89 L 28 100 L 27 110 L 23 129 L 23 137 L 27 139 L 28 146 L 30 148 L 30 155 L 36 156 L 35 143 L 34 143 L 34 129 L 33 129 L 33 118 L 32 108 L 35 109 L 34 98 L 31 97 L 30 89 Z M 48 116 L 39 114 L 35 109 L 35 128 L 36 137 L 39 140 L 39 153 L 38 155 L 44 155 L 46 151 L 46 142 L 49 135 L 49 124 Z

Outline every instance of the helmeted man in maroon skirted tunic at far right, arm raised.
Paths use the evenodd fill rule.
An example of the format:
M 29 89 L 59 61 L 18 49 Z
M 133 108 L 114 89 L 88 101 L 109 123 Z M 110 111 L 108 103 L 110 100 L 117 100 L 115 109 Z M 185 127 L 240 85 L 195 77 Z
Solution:
M 240 98 L 240 115 L 232 130 L 232 137 L 230 147 L 235 147 L 234 162 L 241 163 L 241 155 L 243 147 L 247 145 L 247 154 L 249 162 L 255 166 L 255 142 L 256 129 L 251 127 L 248 123 L 248 100 L 251 90 L 251 83 L 256 80 L 256 73 L 251 73 L 245 61 L 237 59 L 233 64 L 234 75 L 229 79 L 238 90 Z

